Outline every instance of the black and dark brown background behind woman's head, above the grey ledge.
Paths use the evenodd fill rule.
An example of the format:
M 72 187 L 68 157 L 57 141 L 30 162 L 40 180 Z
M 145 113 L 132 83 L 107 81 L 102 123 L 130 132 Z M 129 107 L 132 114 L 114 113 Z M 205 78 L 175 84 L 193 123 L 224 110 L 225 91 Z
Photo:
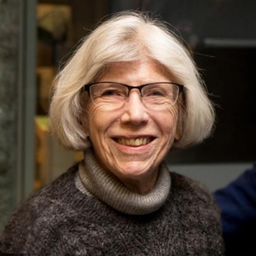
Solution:
M 169 22 L 194 55 L 216 104 L 217 120 L 212 137 L 199 146 L 169 154 L 167 162 L 236 163 L 256 159 L 255 0 L 41 0 L 39 3 L 67 4 L 72 9 L 73 44 L 69 42 L 66 48 L 61 48 L 56 44 L 63 42 L 55 42 L 55 63 L 68 56 L 67 52 L 96 22 L 114 12 L 142 9 Z

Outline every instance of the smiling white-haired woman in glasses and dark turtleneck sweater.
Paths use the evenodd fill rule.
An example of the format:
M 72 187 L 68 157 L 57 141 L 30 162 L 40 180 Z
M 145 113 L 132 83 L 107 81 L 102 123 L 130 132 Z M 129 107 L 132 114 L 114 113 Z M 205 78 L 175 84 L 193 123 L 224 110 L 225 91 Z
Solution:
M 84 160 L 15 212 L 1 252 L 223 255 L 212 196 L 163 161 L 206 138 L 214 112 L 189 53 L 160 21 L 123 13 L 84 38 L 55 80 L 50 119 Z

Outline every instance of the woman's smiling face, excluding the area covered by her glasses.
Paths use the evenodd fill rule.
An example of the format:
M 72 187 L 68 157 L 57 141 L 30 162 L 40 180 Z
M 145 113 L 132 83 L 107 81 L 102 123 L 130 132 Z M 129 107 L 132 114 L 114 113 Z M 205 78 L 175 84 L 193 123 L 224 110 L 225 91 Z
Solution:
M 111 81 L 138 86 L 172 82 L 154 61 L 141 60 L 111 64 L 99 82 Z M 158 111 L 143 105 L 137 90 L 121 108 L 106 104 L 86 107 L 89 135 L 96 158 L 121 180 L 154 177 L 176 135 L 177 104 L 163 104 Z

